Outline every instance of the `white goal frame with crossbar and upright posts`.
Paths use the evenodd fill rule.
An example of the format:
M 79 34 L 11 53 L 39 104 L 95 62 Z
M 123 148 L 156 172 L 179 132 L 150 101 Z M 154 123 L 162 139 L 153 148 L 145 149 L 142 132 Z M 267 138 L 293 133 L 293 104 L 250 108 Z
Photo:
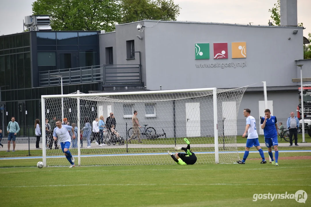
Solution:
M 160 90 L 160 91 L 139 91 L 139 92 L 112 92 L 112 93 L 81 93 L 77 91 L 77 94 L 63 94 L 63 95 L 42 95 L 41 96 L 41 113 L 42 113 L 42 156 L 43 164 L 46 167 L 46 134 L 45 134 L 45 99 L 46 98 L 77 98 L 77 106 L 80 107 L 80 97 L 98 97 L 98 96 L 120 96 L 120 95 L 145 95 L 145 94 L 163 94 L 163 93 L 182 93 L 182 92 L 202 92 L 211 91 L 213 92 L 213 116 L 214 116 L 214 144 L 215 144 L 215 164 L 219 163 L 219 152 L 218 152 L 218 119 L 217 119 L 217 88 L 196 88 L 196 89 L 179 89 L 179 90 Z M 78 137 L 80 137 L 80 110 L 77 110 L 77 127 Z M 78 165 L 81 165 L 80 156 L 80 138 L 78 141 Z

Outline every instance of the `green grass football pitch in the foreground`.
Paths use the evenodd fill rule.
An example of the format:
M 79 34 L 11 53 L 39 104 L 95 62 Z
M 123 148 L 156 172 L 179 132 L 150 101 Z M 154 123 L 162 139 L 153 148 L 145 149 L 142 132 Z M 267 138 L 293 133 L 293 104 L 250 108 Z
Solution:
M 311 154 L 280 153 L 280 157 L 306 155 Z M 250 153 L 248 158 L 258 156 Z M 311 205 L 310 159 L 280 158 L 278 167 L 249 159 L 245 165 L 177 165 L 172 160 L 171 165 L 3 168 L 35 166 L 38 161 L 0 160 L 1 206 Z M 295 199 L 252 201 L 255 193 L 295 194 L 298 190 L 309 195 L 305 204 Z

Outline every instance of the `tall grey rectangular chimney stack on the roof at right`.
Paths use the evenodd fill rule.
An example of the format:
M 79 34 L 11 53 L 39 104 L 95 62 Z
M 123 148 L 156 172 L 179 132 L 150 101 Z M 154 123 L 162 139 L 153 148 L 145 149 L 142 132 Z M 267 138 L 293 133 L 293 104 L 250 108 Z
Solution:
M 280 0 L 281 26 L 297 27 L 297 0 Z

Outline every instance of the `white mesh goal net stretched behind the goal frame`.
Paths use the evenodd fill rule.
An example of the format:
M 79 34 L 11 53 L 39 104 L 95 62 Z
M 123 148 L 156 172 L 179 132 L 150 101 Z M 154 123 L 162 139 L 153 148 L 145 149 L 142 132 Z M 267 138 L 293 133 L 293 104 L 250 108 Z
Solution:
M 63 118 L 76 127 L 77 138 L 69 148 L 76 165 L 175 164 L 167 151 L 183 152 L 174 146 L 186 147 L 184 138 L 197 164 L 234 163 L 239 160 L 237 113 L 246 88 L 42 96 L 42 119 L 51 126 L 48 132 L 42 125 L 43 163 L 69 165 L 60 143 L 51 141 L 55 120 Z M 134 111 L 138 132 L 132 123 Z M 98 131 L 95 118 L 101 116 L 109 123 L 98 136 L 101 132 L 93 130 Z M 112 133 L 111 124 L 117 133 Z

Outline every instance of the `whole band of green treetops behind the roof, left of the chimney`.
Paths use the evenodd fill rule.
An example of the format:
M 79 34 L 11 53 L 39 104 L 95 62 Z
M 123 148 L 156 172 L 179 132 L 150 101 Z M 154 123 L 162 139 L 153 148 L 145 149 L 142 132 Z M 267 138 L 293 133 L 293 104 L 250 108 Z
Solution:
M 49 15 L 53 30 L 114 31 L 115 24 L 142 19 L 174 20 L 173 0 L 37 0 L 33 15 Z

